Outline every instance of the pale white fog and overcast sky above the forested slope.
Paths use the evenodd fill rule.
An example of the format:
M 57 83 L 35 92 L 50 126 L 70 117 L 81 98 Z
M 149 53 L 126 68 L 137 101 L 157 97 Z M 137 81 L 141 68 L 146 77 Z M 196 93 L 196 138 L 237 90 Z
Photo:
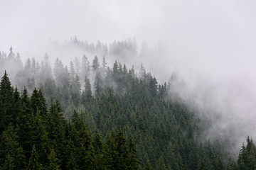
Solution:
M 231 137 L 238 152 L 247 135 L 256 139 L 255 7 L 231 0 L 1 1 L 0 50 L 12 45 L 23 61 L 45 52 L 68 61 L 82 51 L 56 53 L 49 42 L 136 38 L 139 49 L 146 42 L 158 53 L 130 64 L 143 62 L 159 82 L 176 72 L 186 85 L 172 90 L 215 119 L 206 137 Z

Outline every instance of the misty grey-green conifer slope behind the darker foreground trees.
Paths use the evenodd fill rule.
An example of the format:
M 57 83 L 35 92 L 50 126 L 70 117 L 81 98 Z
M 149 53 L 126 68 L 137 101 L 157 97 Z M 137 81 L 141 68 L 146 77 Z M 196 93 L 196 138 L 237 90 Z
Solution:
M 114 62 L 112 67 L 107 67 L 105 57 L 102 57 L 100 62 L 95 56 L 90 64 L 84 55 L 81 61 L 76 59 L 70 62 L 69 67 L 64 66 L 61 60 L 56 59 L 52 69 L 48 55 L 46 55 L 41 64 L 34 59 L 28 59 L 21 72 L 16 75 L 15 81 L 19 89 L 23 86 L 27 87 L 27 96 L 31 96 L 31 98 L 34 96 L 34 87 L 40 89 L 37 94 L 41 96 L 41 99 L 37 102 L 45 101 L 41 106 L 33 108 L 35 116 L 37 108 L 39 113 L 43 108 L 46 115 L 49 115 L 52 106 L 58 105 L 59 107 L 61 105 L 63 107 L 59 113 L 63 113 L 65 118 L 63 120 L 68 122 L 68 127 L 72 127 L 74 115 L 78 116 L 82 123 L 88 125 L 89 131 L 97 131 L 103 137 L 103 147 L 112 133 L 115 134 L 112 137 L 114 139 L 112 141 L 115 141 L 113 145 L 117 147 L 117 136 L 120 132 L 118 130 L 122 129 L 124 139 L 126 139 L 124 148 L 129 148 L 130 139 L 132 137 L 134 139 L 136 146 L 134 153 L 137 150 L 140 164 L 137 167 L 139 168 L 241 169 L 241 167 L 254 165 L 254 149 L 248 149 L 249 147 L 244 147 L 244 151 L 240 154 L 246 156 L 241 157 L 239 162 L 223 162 L 228 159 L 225 148 L 223 148 L 225 145 L 203 141 L 203 128 L 206 128 L 202 126 L 203 120 L 198 119 L 195 111 L 191 108 L 171 100 L 169 93 L 172 91 L 171 82 L 158 84 L 155 77 L 146 73 L 143 65 L 139 72 L 136 72 L 133 67 L 128 69 L 125 64 L 122 65 L 118 62 Z M 14 89 L 14 93 L 15 91 L 18 93 L 18 89 Z M 58 104 L 55 103 L 56 100 L 58 100 Z M 46 106 L 49 106 L 49 111 Z M 74 114 L 74 109 L 78 113 Z M 4 129 L 8 127 L 8 123 L 5 125 Z M 14 125 L 16 124 L 13 123 L 12 126 Z M 58 127 L 58 125 L 53 124 L 51 128 L 53 127 Z M 14 126 L 14 129 L 17 128 Z M 53 132 L 55 130 L 50 130 L 49 134 Z M 68 128 L 65 128 L 65 134 L 68 132 Z M 93 139 L 97 132 L 91 132 L 90 136 Z M 129 134 L 132 137 L 129 137 Z M 59 141 L 61 143 L 65 140 Z M 253 146 L 250 148 L 255 148 L 252 141 L 248 141 L 250 141 L 250 146 Z M 66 148 L 70 148 L 70 146 L 73 148 L 73 145 L 68 145 Z M 58 157 L 59 152 L 55 151 L 58 148 L 53 145 L 56 157 L 58 160 L 65 160 Z M 30 149 L 31 154 L 33 145 Z M 82 149 L 79 150 L 81 152 Z M 73 154 L 80 155 L 80 152 L 73 151 Z M 31 157 L 31 155 L 27 154 L 27 157 Z M 87 159 L 91 158 L 90 156 Z M 77 159 L 75 158 L 75 160 Z M 110 164 L 109 162 L 112 161 L 108 159 L 106 164 Z M 46 164 L 46 166 L 48 165 Z M 63 168 L 63 165 L 60 167 Z M 98 166 L 96 169 L 101 169 L 101 167 L 105 166 Z

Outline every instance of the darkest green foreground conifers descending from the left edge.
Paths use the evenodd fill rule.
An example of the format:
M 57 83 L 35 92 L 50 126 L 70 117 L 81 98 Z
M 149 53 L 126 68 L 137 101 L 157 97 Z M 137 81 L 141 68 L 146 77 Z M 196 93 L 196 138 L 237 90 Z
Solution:
M 6 73 L 0 86 L 0 169 L 138 169 L 132 137 L 122 130 L 91 132 L 82 115 L 63 118 L 60 103 L 49 109 L 41 91 L 28 97 L 11 86 Z

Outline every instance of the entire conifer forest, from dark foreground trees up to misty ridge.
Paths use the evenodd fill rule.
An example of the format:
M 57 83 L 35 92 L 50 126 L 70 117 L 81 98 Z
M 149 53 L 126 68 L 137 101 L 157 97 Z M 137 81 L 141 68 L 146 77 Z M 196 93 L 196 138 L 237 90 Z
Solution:
M 69 65 L 46 54 L 24 66 L 12 48 L 1 52 L 1 169 L 254 169 L 250 137 L 235 161 L 221 140 L 203 139 L 205 120 L 170 95 L 143 64 L 134 67 L 105 56 L 138 55 L 135 41 L 109 48 L 73 43 L 88 51 Z M 147 54 L 147 50 L 142 52 Z M 7 75 L 7 66 L 17 66 Z M 181 82 L 182 85 L 182 82 Z M 206 141 L 205 141 L 206 140 Z

